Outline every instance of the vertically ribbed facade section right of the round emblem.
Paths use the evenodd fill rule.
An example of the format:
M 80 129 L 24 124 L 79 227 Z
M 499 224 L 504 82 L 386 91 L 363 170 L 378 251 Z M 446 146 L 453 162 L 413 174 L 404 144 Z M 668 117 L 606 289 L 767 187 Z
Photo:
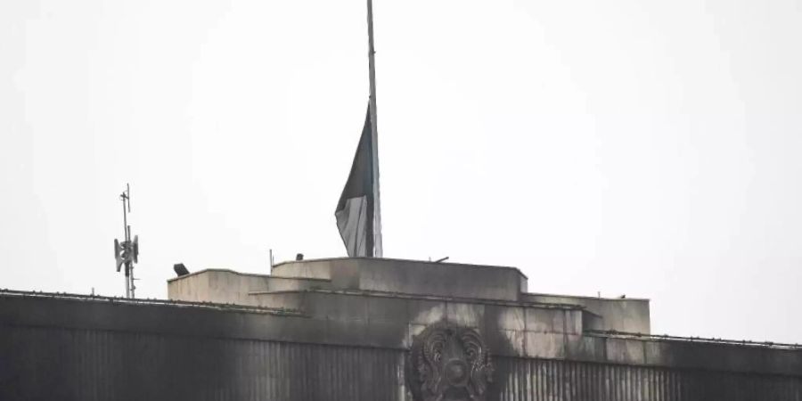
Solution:
M 732 372 L 496 358 L 515 377 L 495 384 L 503 401 L 802 401 L 802 378 Z M 527 383 L 526 389 L 515 386 Z

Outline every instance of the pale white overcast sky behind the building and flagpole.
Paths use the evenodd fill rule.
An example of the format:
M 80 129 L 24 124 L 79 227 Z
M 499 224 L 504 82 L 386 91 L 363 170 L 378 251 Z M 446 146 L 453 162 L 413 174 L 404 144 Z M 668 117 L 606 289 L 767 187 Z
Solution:
M 385 256 L 802 340 L 802 1 L 375 0 Z M 0 287 L 341 257 L 362 0 L 0 2 Z

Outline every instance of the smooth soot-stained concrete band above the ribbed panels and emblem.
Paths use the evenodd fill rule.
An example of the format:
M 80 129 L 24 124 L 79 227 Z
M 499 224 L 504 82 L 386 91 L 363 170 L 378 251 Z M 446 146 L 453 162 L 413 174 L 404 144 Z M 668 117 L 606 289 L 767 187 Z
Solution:
M 299 315 L 271 309 L 0 294 L 0 324 L 406 349 L 422 327 L 446 320 L 477 328 L 497 356 L 802 375 L 800 348 L 583 334 L 577 327 L 580 311 L 571 308 L 516 309 L 427 299 L 410 303 L 350 295 L 323 298 L 323 293 L 315 292 L 287 295 L 319 307 Z M 402 323 L 407 320 L 412 323 Z

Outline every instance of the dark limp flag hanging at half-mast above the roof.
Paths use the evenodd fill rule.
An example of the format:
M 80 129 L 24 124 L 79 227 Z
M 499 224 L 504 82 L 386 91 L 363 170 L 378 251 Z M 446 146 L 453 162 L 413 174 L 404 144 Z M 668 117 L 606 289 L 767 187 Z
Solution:
M 356 147 L 348 182 L 342 189 L 334 216 L 348 257 L 381 258 L 381 216 L 377 152 L 373 149 L 370 106 Z

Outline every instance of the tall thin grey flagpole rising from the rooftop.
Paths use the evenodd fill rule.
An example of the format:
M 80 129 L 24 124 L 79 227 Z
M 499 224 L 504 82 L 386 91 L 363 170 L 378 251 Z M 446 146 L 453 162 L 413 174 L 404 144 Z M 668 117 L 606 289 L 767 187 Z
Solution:
M 372 135 L 372 184 L 373 184 L 373 213 L 372 219 L 372 256 L 373 258 L 382 257 L 381 246 L 381 197 L 379 192 L 379 131 L 376 123 L 376 65 L 373 55 L 376 51 L 373 48 L 373 2 L 367 0 L 368 4 L 368 70 L 371 80 L 371 135 Z

